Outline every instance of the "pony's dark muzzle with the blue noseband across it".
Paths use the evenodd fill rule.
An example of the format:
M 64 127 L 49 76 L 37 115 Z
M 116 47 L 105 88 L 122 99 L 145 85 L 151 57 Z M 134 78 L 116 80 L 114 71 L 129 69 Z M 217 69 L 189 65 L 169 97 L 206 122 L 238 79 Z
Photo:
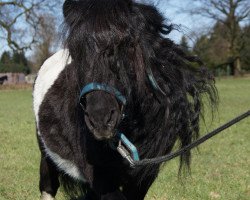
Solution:
M 95 138 L 113 138 L 122 118 L 126 98 L 108 85 L 90 83 L 81 91 L 80 104 L 86 125 Z

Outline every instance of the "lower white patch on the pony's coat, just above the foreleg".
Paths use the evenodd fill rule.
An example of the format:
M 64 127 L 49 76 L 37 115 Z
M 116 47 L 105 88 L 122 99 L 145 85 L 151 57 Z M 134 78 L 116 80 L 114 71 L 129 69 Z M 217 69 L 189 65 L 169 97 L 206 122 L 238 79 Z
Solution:
M 71 161 L 63 159 L 61 156 L 59 156 L 57 153 L 51 151 L 45 144 L 44 140 L 42 140 L 43 143 L 43 147 L 45 149 L 45 152 L 47 154 L 47 156 L 49 156 L 51 158 L 51 160 L 53 160 L 53 162 L 56 164 L 56 166 L 62 170 L 63 172 L 65 172 L 65 174 L 68 174 L 70 177 L 76 179 L 76 180 L 80 180 L 83 182 L 86 182 L 86 180 L 84 179 L 82 173 L 80 172 L 80 170 L 78 169 L 78 167 Z

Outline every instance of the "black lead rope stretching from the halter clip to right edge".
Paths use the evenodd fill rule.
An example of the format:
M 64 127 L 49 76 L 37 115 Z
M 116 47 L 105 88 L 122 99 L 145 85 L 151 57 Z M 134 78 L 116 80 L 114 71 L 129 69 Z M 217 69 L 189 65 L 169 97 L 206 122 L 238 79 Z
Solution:
M 201 137 L 200 139 L 196 140 L 195 142 L 183 147 L 182 149 L 174 152 L 174 153 L 170 153 L 166 156 L 160 156 L 160 157 L 156 157 L 156 158 L 151 158 L 151 159 L 143 159 L 140 161 L 133 161 L 132 163 L 130 162 L 130 166 L 131 167 L 138 167 L 138 166 L 145 166 L 145 165 L 153 165 L 153 164 L 159 164 L 162 162 L 166 162 L 169 161 L 183 153 L 185 153 L 186 151 L 189 151 L 191 149 L 193 149 L 194 147 L 202 144 L 203 142 L 207 141 L 209 138 L 217 135 L 218 133 L 220 133 L 221 131 L 229 128 L 230 126 L 238 123 L 239 121 L 249 117 L 250 115 L 250 110 L 248 110 L 246 113 L 232 119 L 231 121 L 227 122 L 226 124 L 220 126 L 219 128 L 213 130 L 212 132 L 204 135 L 203 137 Z

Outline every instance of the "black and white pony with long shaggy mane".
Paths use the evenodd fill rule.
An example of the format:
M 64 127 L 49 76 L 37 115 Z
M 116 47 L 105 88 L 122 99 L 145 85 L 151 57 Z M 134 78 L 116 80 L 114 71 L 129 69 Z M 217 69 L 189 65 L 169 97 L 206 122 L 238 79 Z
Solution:
M 166 37 L 171 26 L 152 6 L 66 0 L 63 13 L 66 48 L 45 61 L 33 92 L 41 199 L 61 184 L 85 199 L 142 200 L 160 165 L 131 168 L 113 148 L 116 134 L 140 159 L 190 144 L 203 97 L 216 101 L 214 80 Z M 189 166 L 190 152 L 180 161 Z

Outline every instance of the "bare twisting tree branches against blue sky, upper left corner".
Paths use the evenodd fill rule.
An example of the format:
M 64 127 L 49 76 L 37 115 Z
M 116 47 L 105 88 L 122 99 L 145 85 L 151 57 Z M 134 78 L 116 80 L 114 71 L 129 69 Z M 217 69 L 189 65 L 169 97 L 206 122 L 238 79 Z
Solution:
M 7 0 L 0 2 L 1 40 L 15 51 L 30 49 L 37 40 L 41 14 L 53 12 L 61 1 Z

